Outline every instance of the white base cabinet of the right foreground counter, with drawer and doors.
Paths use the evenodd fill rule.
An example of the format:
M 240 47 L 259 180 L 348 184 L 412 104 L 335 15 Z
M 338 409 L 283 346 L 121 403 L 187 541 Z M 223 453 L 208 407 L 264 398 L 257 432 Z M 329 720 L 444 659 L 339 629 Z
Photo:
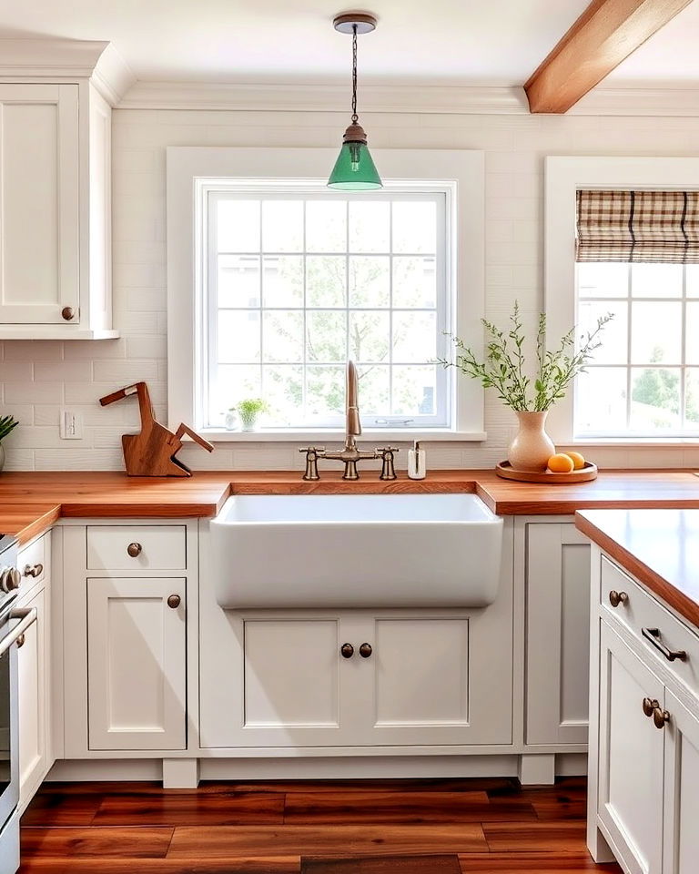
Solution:
M 588 845 L 598 861 L 608 859 L 601 834 L 628 874 L 694 874 L 699 694 L 691 650 L 699 635 L 597 547 L 593 612 Z M 642 626 L 679 641 L 687 660 L 665 659 Z

